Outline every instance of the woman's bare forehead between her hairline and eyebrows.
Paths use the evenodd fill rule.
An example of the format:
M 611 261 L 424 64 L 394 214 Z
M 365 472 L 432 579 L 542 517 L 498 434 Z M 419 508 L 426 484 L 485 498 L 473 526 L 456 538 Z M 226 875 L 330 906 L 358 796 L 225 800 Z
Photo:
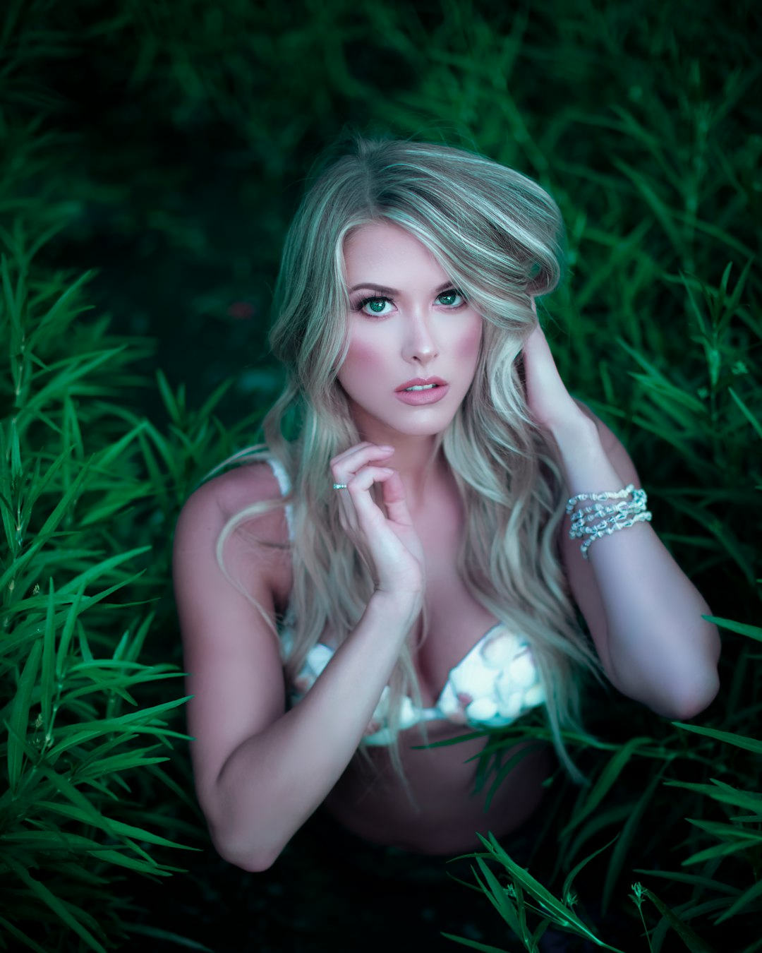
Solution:
M 344 242 L 344 264 L 350 285 L 380 280 L 388 269 L 445 274 L 425 245 L 392 222 L 371 222 L 351 232 Z

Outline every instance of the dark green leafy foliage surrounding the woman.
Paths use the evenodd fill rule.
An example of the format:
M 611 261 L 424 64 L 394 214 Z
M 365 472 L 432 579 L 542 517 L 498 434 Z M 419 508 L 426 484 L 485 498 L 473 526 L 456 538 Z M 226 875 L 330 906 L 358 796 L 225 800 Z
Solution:
M 278 391 L 265 340 L 281 240 L 312 157 L 350 124 L 476 148 L 559 201 L 570 274 L 544 302 L 559 368 L 630 449 L 654 528 L 722 625 L 722 690 L 695 724 L 591 699 L 598 742 L 570 739 L 591 785 L 559 774 L 548 792 L 537 850 L 554 869 L 539 882 L 485 841 L 476 932 L 501 943 L 508 930 L 511 948 L 529 950 L 549 926 L 570 949 L 593 937 L 652 953 L 762 949 L 759 38 L 757 5 L 712 0 L 11 0 L 0 28 L 10 946 L 19 929 L 46 950 L 118 945 L 130 929 L 155 948 L 181 942 L 158 908 L 140 922 L 111 886 L 116 865 L 170 872 L 157 830 L 203 842 L 186 760 L 155 760 L 182 733 L 166 707 L 176 683 L 153 680 L 179 663 L 170 527 Z M 543 730 L 494 736 L 478 783 L 499 783 L 517 732 Z M 209 884 L 171 882 L 232 915 Z M 330 908 L 316 892 L 300 911 L 300 949 L 326 948 L 313 934 Z M 270 931 L 266 913 L 251 942 L 282 950 L 298 918 L 275 923 L 273 907 Z M 194 936 L 217 939 L 206 929 Z M 381 918 L 379 943 L 380 930 Z M 496 948 L 474 933 L 452 941 Z

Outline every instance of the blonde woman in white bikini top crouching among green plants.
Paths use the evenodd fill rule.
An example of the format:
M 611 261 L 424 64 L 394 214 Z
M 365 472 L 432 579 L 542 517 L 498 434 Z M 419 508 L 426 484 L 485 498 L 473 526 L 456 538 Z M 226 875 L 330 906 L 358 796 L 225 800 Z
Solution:
M 561 243 L 551 197 L 471 152 L 357 138 L 313 176 L 267 444 L 175 540 L 196 787 L 228 861 L 268 868 L 321 804 L 376 843 L 471 850 L 527 821 L 552 769 L 532 749 L 485 811 L 484 731 L 540 709 L 573 773 L 586 673 L 667 718 L 716 694 L 709 608 L 540 329 Z

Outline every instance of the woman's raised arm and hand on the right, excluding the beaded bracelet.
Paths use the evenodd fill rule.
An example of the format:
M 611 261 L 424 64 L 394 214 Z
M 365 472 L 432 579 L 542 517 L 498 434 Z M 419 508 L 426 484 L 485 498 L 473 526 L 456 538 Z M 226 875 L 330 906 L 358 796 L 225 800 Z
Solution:
M 640 480 L 612 431 L 569 394 L 542 330 L 524 347 L 527 402 L 557 448 L 570 494 L 619 490 Z M 630 698 L 690 719 L 719 688 L 716 626 L 707 603 L 648 522 L 595 539 L 582 557 L 564 517 L 561 556 L 606 674 Z

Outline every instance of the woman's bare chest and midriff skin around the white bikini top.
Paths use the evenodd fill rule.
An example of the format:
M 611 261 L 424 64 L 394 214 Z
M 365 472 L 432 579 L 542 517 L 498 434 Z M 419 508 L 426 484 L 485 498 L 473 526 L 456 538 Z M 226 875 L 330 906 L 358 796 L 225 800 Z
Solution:
M 471 596 L 456 570 L 464 513 L 454 482 L 445 483 L 432 494 L 427 510 L 413 515 L 413 523 L 426 556 L 430 626 L 415 667 L 422 703 L 429 707 L 439 697 L 451 668 L 497 618 Z M 282 524 L 282 541 L 288 542 L 285 514 Z M 285 612 L 292 585 L 289 559 L 278 560 L 271 581 L 274 604 L 278 611 Z M 324 633 L 321 640 L 332 644 L 330 633 Z M 468 730 L 450 722 L 429 722 L 429 742 L 454 738 Z M 400 756 L 412 796 L 419 805 L 417 810 L 392 771 L 384 748 L 369 749 L 373 772 L 369 773 L 359 758 L 351 761 L 325 801 L 326 810 L 370 841 L 426 854 L 451 855 L 478 845 L 474 831 L 485 835 L 492 831 L 500 837 L 526 821 L 542 799 L 541 782 L 553 766 L 548 746 L 527 755 L 501 782 L 485 813 L 486 789 L 472 795 L 476 761 L 469 761 L 484 747 L 484 740 L 412 750 L 423 743 L 418 727 L 400 736 Z

